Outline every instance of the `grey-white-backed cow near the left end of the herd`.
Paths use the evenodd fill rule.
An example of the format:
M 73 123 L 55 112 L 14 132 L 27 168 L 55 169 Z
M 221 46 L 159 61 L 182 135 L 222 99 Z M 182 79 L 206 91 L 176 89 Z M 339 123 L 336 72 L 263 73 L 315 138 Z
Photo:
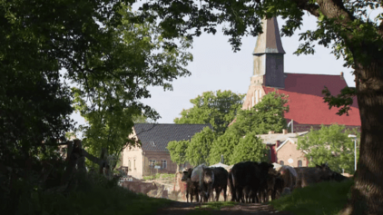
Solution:
M 198 182 L 200 188 L 200 202 L 207 202 L 212 192 L 214 172 L 211 168 L 201 164 L 191 172 L 191 181 Z

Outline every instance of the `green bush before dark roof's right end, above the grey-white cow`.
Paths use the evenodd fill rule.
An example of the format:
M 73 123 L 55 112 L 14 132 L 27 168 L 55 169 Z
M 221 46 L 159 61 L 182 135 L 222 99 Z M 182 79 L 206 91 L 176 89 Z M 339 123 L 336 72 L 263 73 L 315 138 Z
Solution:
M 189 161 L 193 166 L 201 163 L 209 165 L 208 158 L 211 151 L 211 142 L 214 141 L 215 135 L 210 127 L 205 127 L 201 132 L 194 134 L 186 150 L 186 161 Z

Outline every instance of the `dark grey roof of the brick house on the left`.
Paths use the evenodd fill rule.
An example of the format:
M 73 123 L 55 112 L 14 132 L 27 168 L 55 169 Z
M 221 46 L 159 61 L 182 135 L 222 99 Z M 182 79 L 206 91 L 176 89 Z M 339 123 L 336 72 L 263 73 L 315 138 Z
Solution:
M 168 142 L 190 140 L 205 127 L 212 129 L 211 124 L 136 123 L 134 131 L 142 142 L 142 151 L 168 151 Z

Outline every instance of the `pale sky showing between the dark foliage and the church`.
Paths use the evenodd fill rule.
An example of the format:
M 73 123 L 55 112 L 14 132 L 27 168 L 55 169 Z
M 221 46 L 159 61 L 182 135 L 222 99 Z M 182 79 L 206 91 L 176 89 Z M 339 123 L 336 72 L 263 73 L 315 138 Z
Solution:
M 382 12 L 380 12 L 382 13 Z M 378 12 L 371 13 L 375 17 Z M 374 16 L 373 16 L 374 15 Z M 285 21 L 277 17 L 279 27 Z M 350 87 L 354 87 L 354 75 L 351 68 L 343 67 L 345 61 L 336 59 L 330 54 L 331 48 L 315 45 L 314 55 L 293 54 L 302 43 L 299 41 L 300 33 L 314 30 L 317 26 L 317 18 L 313 15 L 303 16 L 303 25 L 291 37 L 281 37 L 284 54 L 285 73 L 316 73 L 336 74 L 344 73 L 344 78 Z M 187 66 L 191 76 L 182 77 L 172 82 L 172 91 L 164 92 L 162 87 L 150 87 L 152 97 L 141 100 L 142 103 L 155 109 L 162 118 L 158 123 L 173 123 L 176 117 L 180 117 L 182 109 L 192 107 L 190 100 L 207 91 L 231 90 L 233 93 L 247 93 L 252 76 L 253 56 L 252 52 L 257 42 L 257 37 L 243 37 L 241 51 L 234 53 L 229 36 L 221 33 L 218 29 L 215 35 L 201 34 L 193 40 L 193 61 Z M 73 119 L 83 124 L 83 118 L 77 113 Z

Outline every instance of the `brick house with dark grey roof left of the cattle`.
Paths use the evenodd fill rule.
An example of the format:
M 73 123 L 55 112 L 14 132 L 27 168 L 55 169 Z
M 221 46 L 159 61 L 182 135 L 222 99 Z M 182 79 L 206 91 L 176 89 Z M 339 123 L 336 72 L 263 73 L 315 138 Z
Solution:
M 127 166 L 128 175 L 136 179 L 157 172 L 175 173 L 177 164 L 172 162 L 166 148 L 168 142 L 191 140 L 195 133 L 207 126 L 212 129 L 210 124 L 136 123 L 129 138 L 138 139 L 142 146 L 126 147 L 122 153 L 122 166 Z

